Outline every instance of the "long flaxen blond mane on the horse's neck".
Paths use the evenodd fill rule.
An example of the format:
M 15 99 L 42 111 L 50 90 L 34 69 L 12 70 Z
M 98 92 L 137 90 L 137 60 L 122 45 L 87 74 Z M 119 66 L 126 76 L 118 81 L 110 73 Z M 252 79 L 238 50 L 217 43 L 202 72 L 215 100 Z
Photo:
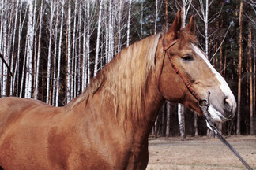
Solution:
M 116 116 L 124 120 L 127 113 L 137 116 L 143 108 L 143 97 L 149 73 L 155 68 L 156 47 L 160 34 L 152 35 L 122 50 L 91 80 L 85 91 L 74 98 L 67 108 L 92 98 L 102 91 L 102 100 L 113 100 Z M 118 114 L 122 113 L 122 115 Z M 125 114 L 123 114 L 125 113 Z

